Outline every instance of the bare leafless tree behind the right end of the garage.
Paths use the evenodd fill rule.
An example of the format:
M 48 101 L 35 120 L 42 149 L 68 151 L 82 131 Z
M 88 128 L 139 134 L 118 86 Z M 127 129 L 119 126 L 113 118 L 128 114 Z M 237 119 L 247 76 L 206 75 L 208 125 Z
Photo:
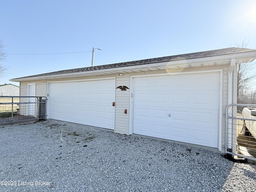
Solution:
M 248 42 L 243 42 L 241 44 L 236 44 L 237 47 L 246 48 Z M 237 102 L 249 104 L 249 102 L 253 102 L 250 99 L 250 95 L 254 94 L 254 90 L 252 90 L 252 81 L 255 80 L 255 74 L 250 73 L 252 69 L 255 67 L 254 63 L 238 63 L 237 67 Z

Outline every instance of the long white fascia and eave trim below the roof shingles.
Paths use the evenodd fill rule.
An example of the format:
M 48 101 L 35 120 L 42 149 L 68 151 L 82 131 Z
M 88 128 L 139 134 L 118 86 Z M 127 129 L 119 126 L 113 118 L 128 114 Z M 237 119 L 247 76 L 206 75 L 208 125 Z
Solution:
M 28 77 L 28 78 L 17 78 L 11 79 L 10 81 L 14 82 L 22 82 L 22 81 L 29 81 L 29 80 L 42 80 L 42 79 L 54 79 L 54 78 L 72 78 L 76 77 L 77 75 L 86 75 L 86 74 L 100 74 L 106 72 L 117 72 L 118 71 L 125 71 L 125 70 L 132 70 L 132 69 L 141 69 L 141 68 L 150 68 L 150 67 L 160 67 L 160 66 L 178 66 L 184 64 L 194 64 L 194 63 L 208 63 L 208 62 L 227 62 L 230 63 L 231 58 L 251 58 L 254 60 L 256 58 L 256 51 L 250 52 L 242 52 L 236 54 L 225 54 L 220 56 L 210 56 L 210 57 L 203 57 L 203 58 L 193 58 L 193 59 L 184 59 L 184 60 L 176 60 L 176 61 L 168 61 L 168 62 L 158 62 L 158 63 L 151 63 L 151 64 L 138 64 L 133 66 L 124 66 L 124 67 L 117 67 L 117 68 L 109 68 L 109 69 L 99 69 L 99 70 L 91 70 L 91 71 L 84 71 L 84 72 L 76 72 L 76 73 L 68 73 L 68 74 L 54 74 L 48 76 L 37 76 L 37 77 Z

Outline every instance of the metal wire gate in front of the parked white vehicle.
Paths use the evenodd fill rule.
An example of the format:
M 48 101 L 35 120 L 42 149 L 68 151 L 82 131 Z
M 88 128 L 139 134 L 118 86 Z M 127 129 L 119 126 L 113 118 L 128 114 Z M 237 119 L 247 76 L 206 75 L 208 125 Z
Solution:
M 226 154 L 256 161 L 256 105 L 226 107 Z

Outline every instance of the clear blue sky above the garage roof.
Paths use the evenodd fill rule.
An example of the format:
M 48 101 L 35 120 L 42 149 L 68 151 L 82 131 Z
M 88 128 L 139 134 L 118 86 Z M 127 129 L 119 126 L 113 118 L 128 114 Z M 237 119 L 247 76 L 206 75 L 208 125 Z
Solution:
M 256 0 L 0 0 L 9 79 L 227 48 L 256 49 Z M 37 53 L 77 54 L 9 55 Z

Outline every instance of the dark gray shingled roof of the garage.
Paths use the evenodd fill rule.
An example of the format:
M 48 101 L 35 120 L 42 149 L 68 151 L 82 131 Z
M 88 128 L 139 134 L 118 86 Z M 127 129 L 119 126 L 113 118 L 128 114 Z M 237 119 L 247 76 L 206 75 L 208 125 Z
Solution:
M 123 63 L 116 63 L 116 64 L 61 70 L 61 71 L 56 71 L 56 72 L 26 76 L 26 77 L 22 77 L 22 78 L 50 76 L 50 75 L 57 75 L 57 74 L 72 74 L 72 73 L 77 73 L 77 72 L 94 71 L 94 70 L 101 70 L 101 69 L 121 68 L 121 67 L 126 67 L 126 66 L 137 66 L 137 65 L 144 65 L 144 64 L 151 64 L 151 63 L 170 62 L 170 61 L 187 60 L 187 59 L 194 59 L 194 58 L 204 58 L 204 57 L 210 57 L 210 56 L 221 56 L 221 55 L 226 55 L 226 54 L 250 52 L 250 51 L 255 51 L 255 50 L 256 49 L 231 47 L 231 48 L 189 53 L 189 54 L 181 54 L 181 55 L 174 55 L 174 56 L 166 56 L 166 57 L 159 57 L 159 58 L 151 58 L 151 59 L 123 62 Z M 20 78 L 16 78 L 16 79 L 20 79 Z M 15 80 L 15 79 L 13 79 L 13 80 Z

